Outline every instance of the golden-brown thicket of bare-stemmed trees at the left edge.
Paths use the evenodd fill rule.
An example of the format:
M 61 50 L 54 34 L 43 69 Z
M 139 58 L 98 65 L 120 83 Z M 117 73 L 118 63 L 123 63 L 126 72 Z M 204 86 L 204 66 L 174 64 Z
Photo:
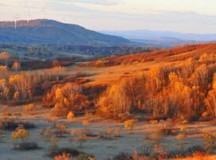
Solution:
M 20 63 L 14 64 L 17 68 Z M 0 66 L 0 99 L 9 105 L 31 103 L 37 99 L 37 96 L 43 94 L 40 91 L 43 88 L 42 84 L 59 79 L 63 71 L 63 67 L 54 67 L 43 71 L 25 71 L 14 74 L 7 67 L 3 70 Z

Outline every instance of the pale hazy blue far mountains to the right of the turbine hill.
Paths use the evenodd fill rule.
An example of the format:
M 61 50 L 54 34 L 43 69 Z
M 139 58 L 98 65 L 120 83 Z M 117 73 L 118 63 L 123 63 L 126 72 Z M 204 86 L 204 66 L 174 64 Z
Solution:
M 216 34 L 186 34 L 151 30 L 102 31 L 102 33 L 121 36 L 145 46 L 157 47 L 173 47 L 177 45 L 216 41 Z

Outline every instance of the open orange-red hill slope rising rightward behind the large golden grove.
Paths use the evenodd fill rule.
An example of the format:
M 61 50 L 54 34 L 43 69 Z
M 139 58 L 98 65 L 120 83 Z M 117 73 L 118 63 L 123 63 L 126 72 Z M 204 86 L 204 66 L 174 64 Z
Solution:
M 91 68 L 91 71 L 87 74 L 93 75 L 90 77 L 90 85 L 107 85 L 112 84 L 121 77 L 130 77 L 158 66 L 175 68 L 180 64 L 187 63 L 189 59 L 198 64 L 202 61 L 213 63 L 216 61 L 215 58 L 212 58 L 213 55 L 216 55 L 216 43 L 187 45 L 156 50 L 150 53 L 112 56 L 90 62 L 89 65 L 95 68 Z M 86 70 L 88 70 L 88 67 Z M 81 72 L 83 68 L 74 70 Z

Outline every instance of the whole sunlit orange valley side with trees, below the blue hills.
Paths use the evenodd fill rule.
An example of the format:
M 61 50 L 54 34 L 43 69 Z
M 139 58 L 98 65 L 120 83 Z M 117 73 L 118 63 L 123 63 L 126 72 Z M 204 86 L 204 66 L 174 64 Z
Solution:
M 215 43 L 38 70 L 22 70 L 6 52 L 0 58 L 3 159 L 23 150 L 45 160 L 215 154 Z

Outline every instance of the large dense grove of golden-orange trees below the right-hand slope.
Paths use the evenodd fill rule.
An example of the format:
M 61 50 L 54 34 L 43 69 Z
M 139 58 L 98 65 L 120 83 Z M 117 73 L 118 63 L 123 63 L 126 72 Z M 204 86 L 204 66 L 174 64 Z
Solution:
M 176 66 L 156 66 L 147 72 L 121 77 L 100 95 L 97 111 L 103 117 L 114 119 L 137 112 L 144 113 L 145 117 L 188 122 L 202 116 L 214 118 L 215 68 L 213 64 L 187 59 Z

